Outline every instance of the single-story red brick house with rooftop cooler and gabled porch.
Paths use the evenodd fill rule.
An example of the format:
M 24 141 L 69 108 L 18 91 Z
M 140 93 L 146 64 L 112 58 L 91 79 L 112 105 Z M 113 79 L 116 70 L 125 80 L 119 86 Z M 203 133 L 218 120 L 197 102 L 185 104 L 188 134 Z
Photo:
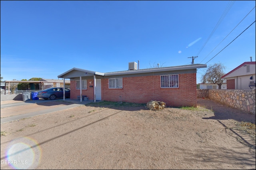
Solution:
M 58 75 L 70 79 L 70 98 L 86 95 L 89 100 L 147 103 L 163 101 L 167 106 L 196 106 L 196 69 L 205 64 L 136 69 L 129 63 L 126 71 L 99 73 L 72 68 Z M 82 87 L 82 88 L 80 88 Z

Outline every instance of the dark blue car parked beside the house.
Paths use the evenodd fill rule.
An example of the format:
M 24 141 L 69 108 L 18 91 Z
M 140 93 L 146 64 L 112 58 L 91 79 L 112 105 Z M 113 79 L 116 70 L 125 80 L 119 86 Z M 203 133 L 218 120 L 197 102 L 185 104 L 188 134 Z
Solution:
M 63 88 L 62 87 L 53 87 L 49 89 L 44 89 L 38 91 L 37 97 L 43 99 L 55 100 L 57 98 L 63 98 Z M 65 88 L 65 98 L 70 98 L 70 89 Z

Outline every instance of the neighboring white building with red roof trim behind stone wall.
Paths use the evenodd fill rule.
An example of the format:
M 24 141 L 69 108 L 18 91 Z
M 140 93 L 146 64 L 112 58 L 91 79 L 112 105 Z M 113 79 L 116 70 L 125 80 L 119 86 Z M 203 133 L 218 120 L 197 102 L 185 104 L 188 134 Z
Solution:
M 255 64 L 255 61 L 244 62 L 222 76 L 227 81 L 227 89 L 255 89 Z

